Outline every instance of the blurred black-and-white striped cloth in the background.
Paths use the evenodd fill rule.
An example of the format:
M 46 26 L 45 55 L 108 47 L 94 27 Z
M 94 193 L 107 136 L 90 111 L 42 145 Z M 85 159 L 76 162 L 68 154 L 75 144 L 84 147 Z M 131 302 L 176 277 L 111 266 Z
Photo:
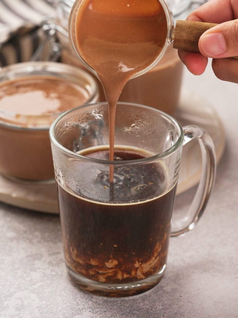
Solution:
M 0 0 L 0 66 L 28 61 L 40 42 L 39 25 L 55 17 L 47 0 Z

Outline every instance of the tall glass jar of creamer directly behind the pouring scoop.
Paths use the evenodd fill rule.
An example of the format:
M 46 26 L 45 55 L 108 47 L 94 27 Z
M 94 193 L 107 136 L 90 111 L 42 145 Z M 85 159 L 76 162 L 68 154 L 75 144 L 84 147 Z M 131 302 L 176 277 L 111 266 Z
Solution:
M 73 0 L 59 0 L 56 5 L 56 24 L 68 30 L 68 19 Z M 62 62 L 84 68 L 76 58 L 69 44 L 66 32 L 58 32 L 57 36 L 62 45 Z M 182 83 L 183 64 L 178 57 L 177 50 L 170 45 L 160 62 L 146 74 L 131 79 L 124 87 L 120 101 L 139 103 L 173 114 L 178 106 Z M 99 83 L 100 100 L 105 95 Z

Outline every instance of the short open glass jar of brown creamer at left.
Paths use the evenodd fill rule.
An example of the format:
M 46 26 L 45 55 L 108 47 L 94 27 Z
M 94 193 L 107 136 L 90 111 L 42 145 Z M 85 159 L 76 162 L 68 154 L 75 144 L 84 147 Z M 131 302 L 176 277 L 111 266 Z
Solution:
M 47 112 L 48 103 L 45 103 L 45 107 L 43 107 L 42 100 L 44 99 L 42 96 L 46 96 L 49 103 L 55 103 L 55 93 L 49 95 L 48 91 L 46 89 L 44 91 L 42 88 L 42 90 L 37 90 L 37 95 L 34 95 L 34 97 L 31 95 L 31 91 L 29 93 L 27 91 L 28 95 L 26 96 L 23 95 L 27 90 L 26 86 L 23 88 L 24 91 L 22 89 L 19 91 L 18 89 L 16 93 L 12 93 L 12 91 L 4 93 L 6 92 L 6 87 L 10 87 L 14 91 L 14 85 L 23 87 L 21 86 L 21 81 L 32 83 L 33 78 L 36 80 L 40 79 L 41 82 L 47 78 L 50 81 L 57 79 L 59 81 L 62 80 L 62 84 L 57 82 L 58 84 L 60 83 L 59 85 L 68 87 L 65 83 L 67 85 L 69 83 L 69 85 L 73 86 L 76 91 L 74 100 L 70 93 L 70 96 L 67 95 L 67 88 L 63 91 L 64 111 L 66 108 L 71 109 L 84 103 L 98 101 L 98 87 L 88 73 L 63 63 L 18 63 L 3 67 L 0 71 L 0 88 L 2 89 L 0 91 L 0 101 L 2 100 L 3 102 L 3 104 L 0 103 L 0 173 L 15 180 L 54 182 L 49 128 L 51 123 L 63 111 Z M 49 81 L 47 83 L 49 85 Z M 61 87 L 63 88 L 63 86 Z M 80 91 L 79 95 L 77 95 L 77 91 Z M 81 96 L 81 93 L 83 94 L 83 99 L 80 102 L 78 97 Z M 17 105 L 10 100 L 12 94 L 16 94 Z M 9 98 L 8 104 L 4 104 L 7 98 Z M 27 106 L 25 106 L 26 103 Z M 6 107 L 3 107 L 4 105 L 9 105 L 9 107 L 17 109 L 17 111 L 6 111 Z M 23 107 L 28 107 L 29 110 L 26 112 L 24 109 L 23 111 Z

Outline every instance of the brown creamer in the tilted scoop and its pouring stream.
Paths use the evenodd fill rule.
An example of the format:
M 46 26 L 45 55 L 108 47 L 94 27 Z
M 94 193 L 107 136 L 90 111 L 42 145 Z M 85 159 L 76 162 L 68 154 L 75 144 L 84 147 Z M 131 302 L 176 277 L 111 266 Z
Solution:
M 165 12 L 158 0 L 86 0 L 77 12 L 75 31 L 76 49 L 98 74 L 108 101 L 113 160 L 117 100 L 128 80 L 162 51 L 167 36 Z

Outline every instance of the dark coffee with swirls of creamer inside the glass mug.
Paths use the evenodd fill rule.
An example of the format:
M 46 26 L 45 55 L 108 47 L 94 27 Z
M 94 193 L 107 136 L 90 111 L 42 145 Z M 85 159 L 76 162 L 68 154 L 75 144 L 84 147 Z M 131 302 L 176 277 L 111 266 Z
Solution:
M 81 155 L 109 160 L 108 147 L 96 147 Z M 146 152 L 117 148 L 114 160 L 136 160 Z M 75 273 L 103 283 L 143 280 L 164 270 L 176 184 L 168 189 L 168 177 L 159 162 L 86 171 L 94 180 L 95 200 L 81 187 L 76 192 L 59 184 L 65 260 Z M 91 176 L 90 176 L 91 174 Z M 131 201 L 131 198 L 133 200 Z

